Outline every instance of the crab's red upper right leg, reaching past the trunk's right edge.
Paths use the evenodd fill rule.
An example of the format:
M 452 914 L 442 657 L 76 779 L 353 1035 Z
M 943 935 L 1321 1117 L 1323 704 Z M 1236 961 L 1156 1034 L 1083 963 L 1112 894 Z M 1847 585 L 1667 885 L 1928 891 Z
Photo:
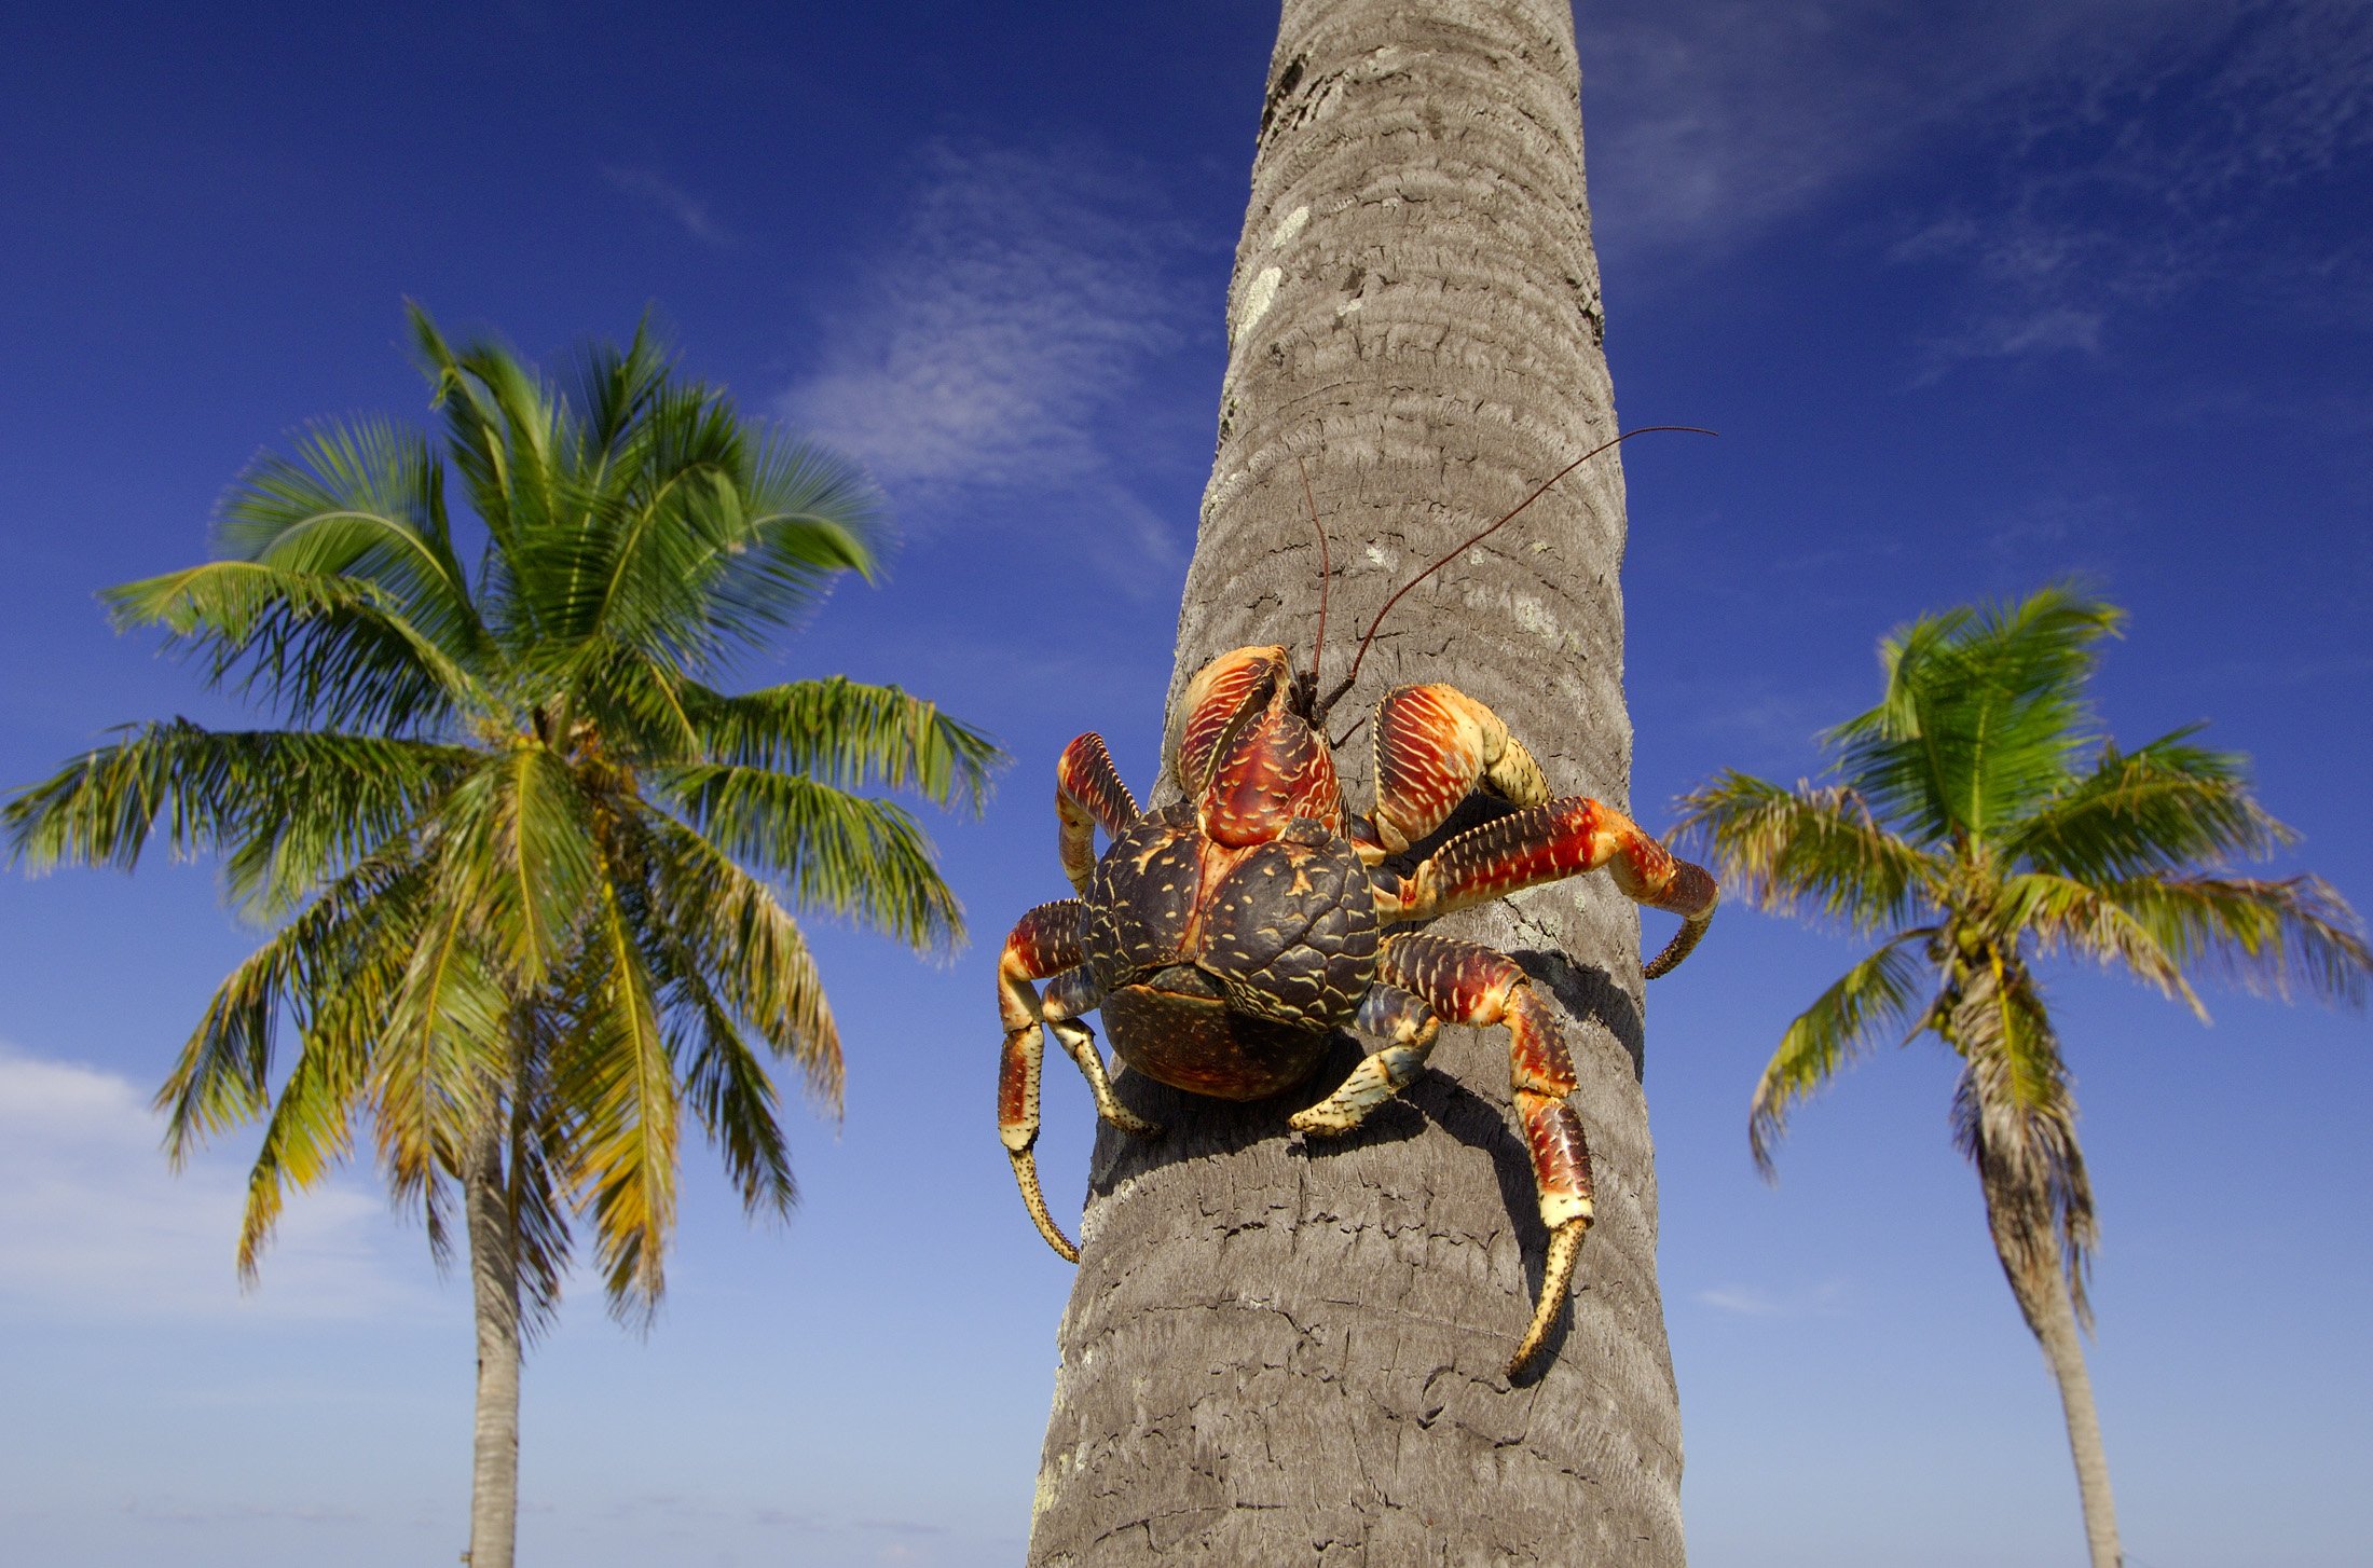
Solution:
M 1379 913 L 1431 920 L 1602 866 L 1635 904 L 1682 918 L 1666 949 L 1647 963 L 1649 980 L 1687 958 L 1713 920 L 1720 887 L 1704 866 L 1675 859 L 1640 823 L 1588 795 L 1526 807 L 1457 835 L 1398 890 L 1381 885 Z

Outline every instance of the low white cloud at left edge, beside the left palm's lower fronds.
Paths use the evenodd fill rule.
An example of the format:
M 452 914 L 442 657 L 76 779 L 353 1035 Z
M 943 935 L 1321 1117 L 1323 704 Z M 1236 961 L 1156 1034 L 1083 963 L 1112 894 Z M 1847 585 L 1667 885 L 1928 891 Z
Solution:
M 387 1205 L 335 1181 L 290 1203 L 240 1293 L 233 1245 L 244 1203 L 233 1158 L 180 1174 L 128 1079 L 0 1046 L 0 1312 L 43 1319 L 373 1319 L 425 1314 L 420 1248 Z

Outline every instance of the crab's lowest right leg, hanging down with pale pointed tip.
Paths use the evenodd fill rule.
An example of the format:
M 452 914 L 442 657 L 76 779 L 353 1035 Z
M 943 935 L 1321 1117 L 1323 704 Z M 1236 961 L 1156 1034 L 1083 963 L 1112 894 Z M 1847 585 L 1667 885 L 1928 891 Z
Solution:
M 1573 1058 L 1557 1030 L 1557 1015 L 1533 989 L 1516 961 L 1474 942 L 1429 937 L 1424 932 L 1388 937 L 1376 954 L 1376 973 L 1448 1022 L 1507 1025 L 1509 1084 L 1516 1091 L 1516 1120 L 1533 1155 L 1533 1184 L 1540 1191 L 1540 1222 L 1550 1229 L 1550 1255 L 1540 1267 L 1540 1300 L 1533 1324 L 1516 1343 L 1507 1376 L 1516 1376 L 1540 1352 L 1550 1326 L 1573 1286 L 1573 1262 L 1590 1229 L 1590 1146 L 1583 1122 L 1566 1105 L 1573 1094 Z

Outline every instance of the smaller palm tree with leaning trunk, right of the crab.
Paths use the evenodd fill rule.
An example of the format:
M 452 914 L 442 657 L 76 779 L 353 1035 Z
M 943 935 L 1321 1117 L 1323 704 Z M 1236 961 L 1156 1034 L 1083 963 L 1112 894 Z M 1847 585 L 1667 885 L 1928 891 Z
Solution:
M 1879 705 L 1827 733 L 1837 783 L 1723 773 L 1682 799 L 1682 835 L 1711 847 L 1725 890 L 1879 937 L 1763 1067 L 1749 1139 L 1766 1174 L 1789 1108 L 1856 1056 L 1925 1032 L 1960 1058 L 1953 1134 L 2060 1381 L 2095 1568 L 2119 1547 L 2079 1338 L 2093 1188 L 2036 963 L 2126 970 L 2202 1020 L 2197 973 L 2356 1001 L 2373 970 L 2321 878 L 2231 871 L 2295 837 L 2242 757 L 2195 731 L 2131 752 L 2098 733 L 2086 683 L 2121 619 L 2072 586 L 1922 617 L 1879 648 Z

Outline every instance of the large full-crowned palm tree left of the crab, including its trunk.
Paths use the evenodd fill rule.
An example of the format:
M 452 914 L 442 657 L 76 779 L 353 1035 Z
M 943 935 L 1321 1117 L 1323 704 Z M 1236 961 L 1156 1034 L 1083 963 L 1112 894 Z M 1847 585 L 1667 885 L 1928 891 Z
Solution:
M 256 460 L 218 560 L 107 593 L 209 686 L 287 728 L 131 726 L 5 811 L 14 854 L 223 856 L 278 923 L 159 1091 L 166 1148 L 263 1117 L 240 1269 L 368 1124 L 477 1309 L 470 1561 L 508 1568 L 522 1343 L 579 1224 L 612 1312 L 664 1288 L 686 1108 L 752 1212 L 795 1198 L 766 1056 L 840 1105 L 840 1037 L 795 909 L 916 949 L 961 911 L 916 821 L 859 795 L 982 799 L 997 750 L 897 688 L 712 686 L 840 572 L 873 576 L 873 491 L 672 372 L 648 330 L 567 382 L 413 334 L 441 451 L 330 422 Z M 446 486 L 484 531 L 463 567 Z M 294 1032 L 278 1075 L 275 1041 Z

